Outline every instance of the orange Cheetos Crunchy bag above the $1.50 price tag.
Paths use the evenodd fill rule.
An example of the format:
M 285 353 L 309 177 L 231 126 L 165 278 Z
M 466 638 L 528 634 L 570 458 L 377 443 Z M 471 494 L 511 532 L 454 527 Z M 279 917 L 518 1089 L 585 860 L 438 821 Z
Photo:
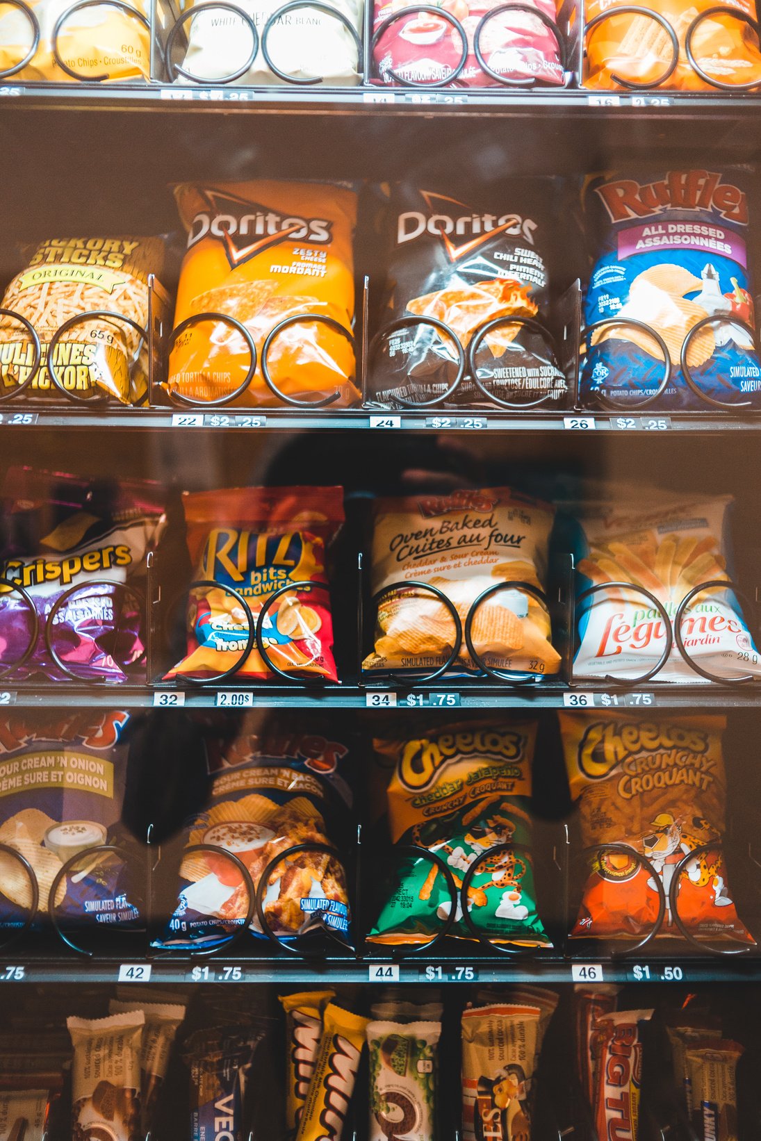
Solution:
M 625 844 L 645 856 L 665 893 L 658 936 L 681 938 L 670 893 L 675 867 L 696 848 L 679 879 L 677 906 L 695 937 L 753 942 L 737 916 L 721 852 L 726 776 L 723 717 L 642 720 L 618 712 L 559 713 L 570 794 L 578 801 L 581 847 Z M 599 851 L 573 938 L 639 939 L 658 919 L 657 884 L 634 856 Z

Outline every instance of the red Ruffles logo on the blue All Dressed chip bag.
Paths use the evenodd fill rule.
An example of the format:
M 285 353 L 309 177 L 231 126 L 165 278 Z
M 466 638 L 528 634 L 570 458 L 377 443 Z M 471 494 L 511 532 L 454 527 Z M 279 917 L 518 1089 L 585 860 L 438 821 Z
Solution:
M 622 178 L 596 187 L 596 193 L 614 222 L 649 218 L 663 210 L 705 210 L 747 226 L 745 194 L 710 170 L 670 170 L 653 183 Z

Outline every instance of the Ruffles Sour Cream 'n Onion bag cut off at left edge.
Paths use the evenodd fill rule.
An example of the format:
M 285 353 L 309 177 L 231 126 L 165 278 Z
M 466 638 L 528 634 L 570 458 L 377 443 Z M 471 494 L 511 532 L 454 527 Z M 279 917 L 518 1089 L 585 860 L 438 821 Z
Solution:
M 127 779 L 122 742 L 128 713 L 6 713 L 0 718 L 0 844 L 31 865 L 39 900 L 35 928 L 49 922 L 52 883 L 68 860 L 89 848 L 124 844 L 121 824 Z M 129 924 L 124 859 L 102 852 L 73 865 L 56 895 L 60 921 Z M 0 851 L 0 931 L 23 925 L 32 884 L 22 864 Z

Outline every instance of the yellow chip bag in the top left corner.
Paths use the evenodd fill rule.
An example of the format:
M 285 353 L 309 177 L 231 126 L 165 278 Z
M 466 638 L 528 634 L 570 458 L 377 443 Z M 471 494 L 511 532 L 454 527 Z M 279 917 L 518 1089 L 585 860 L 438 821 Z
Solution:
M 76 76 L 67 74 L 52 55 L 52 31 L 58 17 L 71 8 L 70 0 L 27 0 L 40 25 L 40 42 L 30 63 L 16 72 L 14 83 L 71 83 L 82 80 L 123 82 L 151 79 L 151 30 L 144 0 L 129 0 L 137 16 L 105 5 L 86 8 L 66 17 L 58 33 L 58 54 Z M 16 67 L 32 46 L 32 25 L 21 8 L 0 13 L 0 70 Z M 108 308 L 92 306 L 91 308 Z

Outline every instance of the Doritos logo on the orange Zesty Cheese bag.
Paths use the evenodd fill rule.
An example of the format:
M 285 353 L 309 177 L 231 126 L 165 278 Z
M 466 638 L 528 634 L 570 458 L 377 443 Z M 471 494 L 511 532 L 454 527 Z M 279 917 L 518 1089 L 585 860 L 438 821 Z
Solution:
M 326 245 L 332 240 L 332 222 L 326 218 L 285 217 L 259 202 L 218 191 L 204 191 L 202 197 L 208 209 L 193 219 L 188 249 L 208 235 L 219 238 L 232 269 L 278 242 Z

